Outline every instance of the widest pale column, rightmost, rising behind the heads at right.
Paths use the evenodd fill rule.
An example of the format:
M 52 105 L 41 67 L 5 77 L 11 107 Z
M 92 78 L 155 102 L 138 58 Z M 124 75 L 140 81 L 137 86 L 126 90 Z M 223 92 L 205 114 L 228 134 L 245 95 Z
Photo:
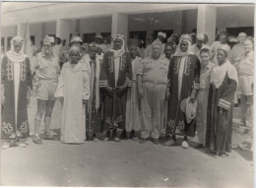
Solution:
M 215 40 L 216 35 L 216 7 L 200 4 L 197 11 L 197 33 L 206 33 L 209 42 Z

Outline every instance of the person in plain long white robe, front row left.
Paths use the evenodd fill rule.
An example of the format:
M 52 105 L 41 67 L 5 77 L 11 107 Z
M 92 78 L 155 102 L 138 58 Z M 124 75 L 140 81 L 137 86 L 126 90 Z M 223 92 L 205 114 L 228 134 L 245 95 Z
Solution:
M 82 144 L 86 139 L 85 105 L 90 98 L 90 71 L 81 59 L 80 48 L 70 48 L 70 61 L 62 67 L 55 97 L 63 97 L 62 143 Z

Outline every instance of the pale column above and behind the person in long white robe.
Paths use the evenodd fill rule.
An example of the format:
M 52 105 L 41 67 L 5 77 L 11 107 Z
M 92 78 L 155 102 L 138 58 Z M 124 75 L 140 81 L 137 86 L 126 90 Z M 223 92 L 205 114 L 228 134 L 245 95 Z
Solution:
M 70 34 L 70 23 L 66 20 L 57 20 L 56 23 L 56 36 L 60 37 L 60 39 L 66 39 L 69 41 Z

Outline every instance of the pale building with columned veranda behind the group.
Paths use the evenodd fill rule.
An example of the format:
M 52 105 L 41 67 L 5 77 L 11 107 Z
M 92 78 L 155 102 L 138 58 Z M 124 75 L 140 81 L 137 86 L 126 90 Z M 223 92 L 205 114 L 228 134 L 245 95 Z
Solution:
M 27 22 L 36 46 L 46 34 L 70 40 L 79 32 L 85 41 L 96 34 L 122 33 L 144 39 L 152 33 L 204 32 L 209 41 L 216 33 L 239 31 L 253 35 L 253 4 L 154 3 L 1 3 L 1 45 L 8 49 L 14 35 L 24 36 Z

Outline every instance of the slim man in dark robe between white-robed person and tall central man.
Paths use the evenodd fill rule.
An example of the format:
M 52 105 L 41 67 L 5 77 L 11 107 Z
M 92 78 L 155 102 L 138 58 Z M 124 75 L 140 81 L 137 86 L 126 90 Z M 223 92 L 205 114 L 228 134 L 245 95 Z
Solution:
M 99 90 L 99 74 L 101 58 L 97 55 L 98 45 L 96 42 L 89 44 L 89 54 L 84 55 L 84 61 L 91 66 L 90 99 L 87 106 L 87 138 L 98 141 L 96 134 L 101 132 L 101 102 Z

